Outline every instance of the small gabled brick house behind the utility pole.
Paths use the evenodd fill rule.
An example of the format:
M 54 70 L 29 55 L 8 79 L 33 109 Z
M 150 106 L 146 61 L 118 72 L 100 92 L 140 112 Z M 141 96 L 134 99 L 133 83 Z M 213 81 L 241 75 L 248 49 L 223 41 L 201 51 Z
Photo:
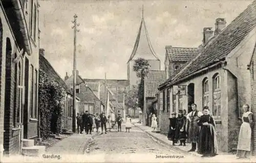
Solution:
M 103 103 L 99 99 L 99 83 L 97 82 L 85 82 L 83 78 L 78 74 L 76 74 L 76 95 L 80 99 L 78 112 L 89 111 L 91 114 L 96 114 L 101 112 L 101 108 Z M 70 90 L 73 92 L 73 74 L 68 77 L 66 74 L 65 83 L 69 86 Z M 98 95 L 98 96 L 97 96 Z

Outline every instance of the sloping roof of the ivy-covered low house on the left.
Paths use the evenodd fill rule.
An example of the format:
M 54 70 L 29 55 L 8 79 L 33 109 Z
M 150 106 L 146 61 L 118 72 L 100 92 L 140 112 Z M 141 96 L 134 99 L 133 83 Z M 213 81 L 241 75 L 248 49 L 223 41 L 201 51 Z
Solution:
M 54 70 L 52 65 L 42 55 L 39 55 L 39 68 L 44 71 L 50 78 L 52 78 L 56 83 L 58 83 L 59 86 L 62 86 L 67 92 L 71 93 L 67 84 L 61 79 L 61 77 Z

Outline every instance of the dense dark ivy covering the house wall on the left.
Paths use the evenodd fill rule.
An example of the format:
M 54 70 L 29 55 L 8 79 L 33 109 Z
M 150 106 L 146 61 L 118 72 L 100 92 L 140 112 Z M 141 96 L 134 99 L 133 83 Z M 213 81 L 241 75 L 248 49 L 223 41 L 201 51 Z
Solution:
M 65 107 L 65 89 L 59 86 L 44 71 L 39 69 L 38 110 L 40 113 L 40 132 L 47 138 L 52 132 L 51 123 L 55 118 L 56 134 L 61 132 L 61 119 Z

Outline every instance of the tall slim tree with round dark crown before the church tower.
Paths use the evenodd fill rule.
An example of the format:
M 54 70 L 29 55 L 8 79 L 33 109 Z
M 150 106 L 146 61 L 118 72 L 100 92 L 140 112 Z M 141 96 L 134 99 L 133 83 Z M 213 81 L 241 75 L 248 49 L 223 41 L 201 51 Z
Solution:
M 150 70 L 151 65 L 147 60 L 143 58 L 138 58 L 135 60 L 133 65 L 133 70 L 136 72 L 138 78 L 141 78 L 138 86 L 138 106 L 143 110 L 144 104 L 144 78 Z

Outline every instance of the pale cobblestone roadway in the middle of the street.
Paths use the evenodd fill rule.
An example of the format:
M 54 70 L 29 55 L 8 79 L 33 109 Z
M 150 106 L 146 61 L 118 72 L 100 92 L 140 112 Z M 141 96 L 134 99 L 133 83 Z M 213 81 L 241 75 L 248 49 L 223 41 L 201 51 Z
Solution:
M 107 134 L 96 135 L 90 143 L 88 154 L 132 154 L 132 153 L 152 153 L 155 155 L 183 155 L 177 151 L 156 142 L 152 137 L 137 127 L 133 127 L 130 132 L 112 131 Z

